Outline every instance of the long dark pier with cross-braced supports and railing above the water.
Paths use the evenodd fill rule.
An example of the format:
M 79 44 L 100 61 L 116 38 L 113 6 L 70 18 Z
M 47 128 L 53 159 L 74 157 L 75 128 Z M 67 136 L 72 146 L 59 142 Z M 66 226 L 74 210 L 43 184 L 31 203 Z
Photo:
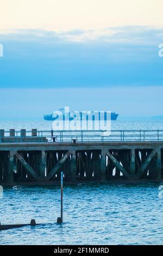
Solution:
M 0 185 L 163 181 L 163 130 L 0 130 Z

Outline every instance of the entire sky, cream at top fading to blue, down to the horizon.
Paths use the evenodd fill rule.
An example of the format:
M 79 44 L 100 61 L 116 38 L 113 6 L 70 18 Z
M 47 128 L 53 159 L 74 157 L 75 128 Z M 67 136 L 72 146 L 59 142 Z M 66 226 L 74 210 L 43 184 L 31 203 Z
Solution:
M 41 117 L 62 106 L 163 114 L 162 0 L 0 6 L 0 117 Z

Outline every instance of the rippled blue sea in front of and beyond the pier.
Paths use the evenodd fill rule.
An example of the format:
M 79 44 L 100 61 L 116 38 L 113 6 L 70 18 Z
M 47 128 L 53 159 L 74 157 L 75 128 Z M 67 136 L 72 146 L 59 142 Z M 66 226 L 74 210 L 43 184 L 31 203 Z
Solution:
M 163 120 L 117 120 L 112 130 L 154 129 Z M 51 130 L 42 119 L 0 119 L 0 129 Z M 0 245 L 162 245 L 163 184 L 13 186 L 0 191 L 1 224 L 40 223 L 0 231 Z

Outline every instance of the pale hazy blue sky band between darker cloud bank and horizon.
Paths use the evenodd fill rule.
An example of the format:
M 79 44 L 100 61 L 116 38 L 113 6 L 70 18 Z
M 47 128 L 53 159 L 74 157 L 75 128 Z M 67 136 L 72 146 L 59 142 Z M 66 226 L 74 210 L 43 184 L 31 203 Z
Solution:
M 111 110 L 119 113 L 120 119 L 123 119 L 133 116 L 161 115 L 163 87 L 111 87 L 85 90 L 83 88 L 50 88 L 48 90 L 3 88 L 0 89 L 0 94 L 1 106 L 5 106 L 4 111 L 1 108 L 2 118 L 7 118 L 6 113 L 8 118 L 41 118 L 43 114 L 52 114 L 60 106 L 69 106 L 76 111 L 104 111 L 110 110 L 108 106 L 111 106 Z M 64 105 L 65 102 L 67 105 Z M 127 106 L 128 114 L 126 114 Z

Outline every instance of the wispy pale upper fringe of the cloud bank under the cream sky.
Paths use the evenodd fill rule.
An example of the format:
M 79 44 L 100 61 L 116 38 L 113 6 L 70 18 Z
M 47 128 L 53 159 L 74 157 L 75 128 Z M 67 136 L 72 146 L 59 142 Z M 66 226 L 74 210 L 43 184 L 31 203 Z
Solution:
M 163 39 L 163 28 L 145 26 L 124 26 L 105 29 L 89 29 L 66 32 L 45 31 L 43 29 L 14 29 L 0 34 L 0 38 L 27 40 L 36 38 L 55 39 L 58 42 L 124 42 L 133 44 L 155 44 Z

